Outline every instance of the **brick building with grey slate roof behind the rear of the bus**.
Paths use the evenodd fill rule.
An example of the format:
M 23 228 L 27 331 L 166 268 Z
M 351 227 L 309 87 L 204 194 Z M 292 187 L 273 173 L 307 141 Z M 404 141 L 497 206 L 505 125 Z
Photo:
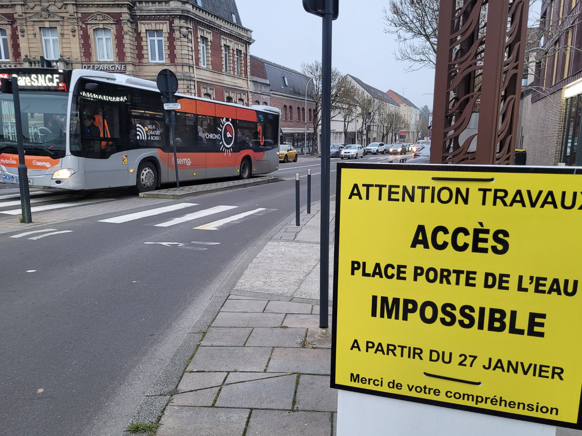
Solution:
M 307 152 L 313 142 L 315 103 L 305 92 L 303 74 L 268 60 L 250 56 L 251 102 L 281 109 L 281 144 L 293 145 L 303 152 L 307 128 Z

